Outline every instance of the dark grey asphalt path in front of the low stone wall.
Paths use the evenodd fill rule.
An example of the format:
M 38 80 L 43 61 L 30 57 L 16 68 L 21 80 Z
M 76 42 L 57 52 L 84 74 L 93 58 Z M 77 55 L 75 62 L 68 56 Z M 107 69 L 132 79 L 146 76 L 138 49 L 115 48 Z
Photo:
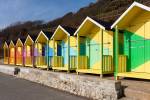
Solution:
M 0 100 L 87 100 L 0 73 Z

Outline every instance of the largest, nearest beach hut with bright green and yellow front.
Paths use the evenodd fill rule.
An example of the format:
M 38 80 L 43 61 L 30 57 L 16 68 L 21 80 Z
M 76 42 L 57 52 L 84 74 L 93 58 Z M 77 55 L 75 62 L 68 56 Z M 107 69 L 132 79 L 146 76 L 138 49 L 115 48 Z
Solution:
M 150 79 L 150 7 L 134 2 L 111 28 L 115 29 L 116 79 L 117 76 Z M 119 38 L 122 44 L 118 43 Z

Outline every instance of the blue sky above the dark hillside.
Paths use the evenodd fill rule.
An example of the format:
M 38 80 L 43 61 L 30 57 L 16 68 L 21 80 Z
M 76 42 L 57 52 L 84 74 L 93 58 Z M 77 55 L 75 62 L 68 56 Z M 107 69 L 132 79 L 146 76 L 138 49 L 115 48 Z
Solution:
M 50 21 L 96 0 L 0 0 L 0 28 L 24 21 Z

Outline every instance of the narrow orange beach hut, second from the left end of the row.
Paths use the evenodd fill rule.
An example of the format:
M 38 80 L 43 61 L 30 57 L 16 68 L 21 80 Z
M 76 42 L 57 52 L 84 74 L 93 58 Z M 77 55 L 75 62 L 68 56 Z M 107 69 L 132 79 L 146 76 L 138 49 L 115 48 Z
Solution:
M 16 43 L 16 41 L 14 41 Z M 15 44 L 11 40 L 9 44 L 9 64 L 10 65 L 15 65 L 16 63 L 16 57 L 15 57 Z

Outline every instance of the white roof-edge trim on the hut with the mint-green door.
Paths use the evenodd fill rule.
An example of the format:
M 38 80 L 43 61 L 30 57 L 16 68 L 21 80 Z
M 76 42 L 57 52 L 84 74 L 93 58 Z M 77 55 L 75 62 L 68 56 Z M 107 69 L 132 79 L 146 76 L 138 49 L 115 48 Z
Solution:
M 80 28 L 84 25 L 84 23 L 89 20 L 91 21 L 92 23 L 94 23 L 95 25 L 97 25 L 98 27 L 100 27 L 101 29 L 105 30 L 105 27 L 101 24 L 99 24 L 98 22 L 96 22 L 95 20 L 93 20 L 92 18 L 90 17 L 86 17 L 86 19 L 82 22 L 82 24 L 79 26 L 79 28 L 76 30 L 76 32 L 74 33 L 74 35 L 76 35 L 78 33 L 78 31 L 80 30 Z

